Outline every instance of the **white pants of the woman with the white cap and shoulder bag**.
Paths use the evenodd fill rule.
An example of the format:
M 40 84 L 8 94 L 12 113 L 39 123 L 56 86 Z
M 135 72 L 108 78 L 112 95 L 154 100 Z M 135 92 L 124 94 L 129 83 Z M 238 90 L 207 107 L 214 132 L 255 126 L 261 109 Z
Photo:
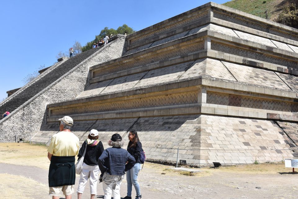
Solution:
M 98 165 L 90 166 L 88 164 L 83 163 L 82 171 L 80 173 L 79 187 L 77 193 L 83 193 L 85 189 L 85 185 L 89 178 L 90 184 L 90 194 L 97 194 L 97 180 L 99 174 Z

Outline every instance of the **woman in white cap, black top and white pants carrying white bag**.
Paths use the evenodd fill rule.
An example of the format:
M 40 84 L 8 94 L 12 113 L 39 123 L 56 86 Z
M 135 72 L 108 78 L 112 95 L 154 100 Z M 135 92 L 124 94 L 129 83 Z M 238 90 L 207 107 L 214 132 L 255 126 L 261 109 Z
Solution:
M 86 148 L 87 147 L 87 148 Z M 94 199 L 96 195 L 97 180 L 99 174 L 99 167 L 97 160 L 102 155 L 104 151 L 102 142 L 98 140 L 98 131 L 92 129 L 88 135 L 88 139 L 84 141 L 82 147 L 79 151 L 78 160 L 83 156 L 84 150 L 86 148 L 86 154 L 84 156 L 84 163 L 82 166 L 82 171 L 80 173 L 79 187 L 77 190 L 78 199 L 81 199 L 82 193 L 84 192 L 85 185 L 89 178 L 90 183 L 90 194 L 91 199 Z

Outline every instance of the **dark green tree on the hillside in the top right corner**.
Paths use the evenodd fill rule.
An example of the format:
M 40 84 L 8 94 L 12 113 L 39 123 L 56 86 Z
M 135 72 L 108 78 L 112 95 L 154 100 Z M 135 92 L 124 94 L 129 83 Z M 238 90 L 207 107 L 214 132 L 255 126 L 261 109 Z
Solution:
M 276 22 L 298 29 L 298 6 L 295 3 L 285 6 Z

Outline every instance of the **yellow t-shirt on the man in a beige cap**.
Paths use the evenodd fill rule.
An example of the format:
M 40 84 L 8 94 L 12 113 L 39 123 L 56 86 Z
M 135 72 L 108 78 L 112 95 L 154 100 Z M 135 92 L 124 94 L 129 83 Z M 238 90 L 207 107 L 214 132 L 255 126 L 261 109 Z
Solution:
M 79 154 L 79 138 L 72 132 L 61 131 L 53 135 L 47 151 L 54 156 Z

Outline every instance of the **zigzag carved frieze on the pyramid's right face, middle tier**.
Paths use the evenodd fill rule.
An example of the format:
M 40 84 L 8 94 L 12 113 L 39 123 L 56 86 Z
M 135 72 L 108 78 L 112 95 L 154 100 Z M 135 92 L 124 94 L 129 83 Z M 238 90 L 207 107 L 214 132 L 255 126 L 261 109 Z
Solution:
M 269 62 L 269 63 L 286 66 L 289 69 L 293 69 L 293 68 L 296 70 L 298 69 L 297 62 L 273 57 L 273 56 L 270 56 L 270 55 L 267 55 L 264 53 L 258 53 L 258 52 L 251 51 L 251 50 L 246 50 L 246 49 L 229 46 L 229 45 L 222 44 L 222 43 L 211 42 L 211 49 L 217 50 L 220 52 L 224 52 L 224 53 L 238 55 L 238 56 L 245 57 L 245 58 L 251 58 L 251 59 L 256 59 L 259 61 L 264 61 L 264 62 Z

